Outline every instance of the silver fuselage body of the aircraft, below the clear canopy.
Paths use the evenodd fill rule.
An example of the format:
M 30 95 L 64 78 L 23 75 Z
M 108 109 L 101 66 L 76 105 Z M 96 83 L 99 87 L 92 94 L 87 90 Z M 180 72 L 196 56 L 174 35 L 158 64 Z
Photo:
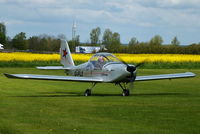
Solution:
M 98 66 L 98 65 L 97 65 Z M 129 82 L 130 72 L 121 62 L 108 62 L 102 67 L 95 67 L 91 61 L 75 66 L 68 71 L 69 75 L 84 77 L 101 77 L 104 82 Z M 136 75 L 136 71 L 134 72 Z

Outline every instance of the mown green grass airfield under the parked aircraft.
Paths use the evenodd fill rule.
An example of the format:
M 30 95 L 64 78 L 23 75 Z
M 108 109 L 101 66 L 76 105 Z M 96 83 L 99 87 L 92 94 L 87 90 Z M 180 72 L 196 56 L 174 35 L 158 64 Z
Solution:
M 141 69 L 138 75 L 192 71 L 188 79 L 136 82 L 122 97 L 113 84 L 8 79 L 2 73 L 63 71 L 0 68 L 0 134 L 198 134 L 200 70 Z

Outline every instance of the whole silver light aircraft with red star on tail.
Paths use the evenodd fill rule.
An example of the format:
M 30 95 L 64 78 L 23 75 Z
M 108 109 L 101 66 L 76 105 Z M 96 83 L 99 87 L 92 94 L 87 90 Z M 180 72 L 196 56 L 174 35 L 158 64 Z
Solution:
M 133 83 L 135 81 L 175 79 L 195 76 L 192 72 L 137 76 L 137 68 L 143 63 L 137 65 L 127 64 L 110 53 L 96 53 L 88 62 L 75 66 L 68 43 L 64 40 L 61 40 L 60 59 L 63 66 L 44 66 L 37 67 L 37 69 L 61 69 L 65 70 L 67 76 L 37 74 L 5 74 L 5 76 L 8 78 L 21 79 L 90 82 L 92 85 L 84 92 L 85 96 L 91 95 L 91 91 L 97 83 L 114 83 L 119 85 L 122 88 L 122 95 L 129 96 L 129 91 L 133 88 Z

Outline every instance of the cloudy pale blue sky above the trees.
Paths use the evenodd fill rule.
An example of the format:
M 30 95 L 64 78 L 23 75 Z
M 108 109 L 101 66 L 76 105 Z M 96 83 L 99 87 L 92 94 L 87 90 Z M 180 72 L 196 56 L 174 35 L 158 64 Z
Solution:
M 0 0 L 0 22 L 7 35 L 25 32 L 72 38 L 72 25 L 81 42 L 100 27 L 118 32 L 122 43 L 161 35 L 165 44 L 177 36 L 181 45 L 200 42 L 200 0 Z

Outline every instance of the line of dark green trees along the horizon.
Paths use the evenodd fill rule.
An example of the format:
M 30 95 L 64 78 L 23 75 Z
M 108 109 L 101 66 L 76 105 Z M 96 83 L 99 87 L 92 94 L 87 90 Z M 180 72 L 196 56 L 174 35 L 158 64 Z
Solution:
M 76 46 L 105 46 L 107 52 L 112 53 L 169 53 L 169 54 L 200 54 L 200 43 L 193 43 L 181 46 L 180 41 L 175 36 L 170 44 L 163 44 L 163 38 L 155 35 L 148 42 L 139 42 L 136 37 L 132 37 L 127 45 L 120 41 L 120 34 L 105 29 L 101 36 L 100 27 L 93 28 L 89 33 L 90 42 L 81 43 L 80 36 L 68 40 L 70 49 L 75 52 Z M 65 35 L 50 36 L 47 34 L 26 37 L 26 33 L 20 32 L 12 39 L 6 35 L 6 26 L 0 23 L 0 43 L 5 49 L 26 50 L 26 51 L 50 51 L 58 52 L 60 40 L 66 40 Z M 103 51 L 103 50 L 102 50 Z

